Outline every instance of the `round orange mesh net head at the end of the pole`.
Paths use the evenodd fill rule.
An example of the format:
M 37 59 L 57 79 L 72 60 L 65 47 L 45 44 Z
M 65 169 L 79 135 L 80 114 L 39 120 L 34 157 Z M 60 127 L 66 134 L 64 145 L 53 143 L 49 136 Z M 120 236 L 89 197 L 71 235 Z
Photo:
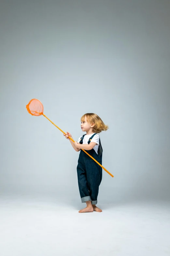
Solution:
M 28 105 L 26 105 L 26 109 L 29 114 L 35 115 L 35 116 L 42 115 L 44 111 L 43 104 L 41 103 L 41 101 L 37 99 L 30 100 Z

